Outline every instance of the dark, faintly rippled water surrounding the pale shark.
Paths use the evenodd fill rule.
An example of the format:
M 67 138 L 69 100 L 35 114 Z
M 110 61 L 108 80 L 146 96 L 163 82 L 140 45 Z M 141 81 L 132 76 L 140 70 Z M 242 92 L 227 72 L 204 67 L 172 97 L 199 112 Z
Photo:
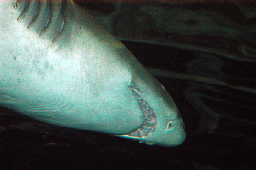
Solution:
M 111 13 L 98 12 L 96 17 L 114 16 L 118 8 L 110 6 L 115 7 Z M 1 108 L 0 169 L 256 169 L 255 6 L 222 4 L 218 9 L 210 4 L 176 4 L 167 12 L 159 4 L 138 6 L 142 5 L 124 4 L 116 12 L 118 17 L 113 17 L 112 32 L 125 40 L 125 46 L 171 94 L 186 125 L 184 144 L 148 146 L 55 127 Z M 129 20 L 124 22 L 123 17 L 134 16 L 128 9 L 143 16 L 143 24 L 134 24 L 132 28 L 137 30 L 130 30 L 136 33 L 120 31 L 119 20 L 127 28 Z M 138 9 L 145 10 L 139 13 Z M 165 15 L 153 13 L 153 9 L 165 9 Z M 128 13 L 122 15 L 122 11 Z M 171 20 L 169 15 L 175 13 L 190 13 L 194 20 L 181 24 L 183 29 L 178 22 L 176 27 L 157 22 Z M 199 24 L 197 32 L 192 28 L 196 23 L 204 25 Z M 145 29 L 149 27 L 154 29 Z

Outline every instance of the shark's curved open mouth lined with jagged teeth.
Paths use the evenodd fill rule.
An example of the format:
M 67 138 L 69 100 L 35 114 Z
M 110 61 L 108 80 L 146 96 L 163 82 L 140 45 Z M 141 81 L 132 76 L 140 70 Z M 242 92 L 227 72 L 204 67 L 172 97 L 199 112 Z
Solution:
M 143 138 L 147 137 L 151 133 L 154 133 L 155 127 L 157 125 L 157 118 L 153 112 L 153 110 L 149 107 L 149 105 L 140 97 L 140 95 L 135 92 L 134 88 L 132 88 L 135 98 L 137 99 L 138 104 L 140 105 L 140 109 L 143 111 L 143 124 L 137 129 L 128 133 L 126 136 Z

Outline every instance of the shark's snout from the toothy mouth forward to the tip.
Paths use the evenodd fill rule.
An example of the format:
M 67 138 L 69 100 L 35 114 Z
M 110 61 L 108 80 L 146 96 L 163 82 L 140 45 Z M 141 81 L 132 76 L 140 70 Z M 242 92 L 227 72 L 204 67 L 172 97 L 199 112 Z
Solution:
M 137 101 L 143 113 L 143 123 L 131 133 L 119 136 L 149 145 L 171 147 L 182 144 L 186 130 L 175 102 L 156 78 L 147 77 L 150 81 L 140 77 L 128 84 L 133 100 Z

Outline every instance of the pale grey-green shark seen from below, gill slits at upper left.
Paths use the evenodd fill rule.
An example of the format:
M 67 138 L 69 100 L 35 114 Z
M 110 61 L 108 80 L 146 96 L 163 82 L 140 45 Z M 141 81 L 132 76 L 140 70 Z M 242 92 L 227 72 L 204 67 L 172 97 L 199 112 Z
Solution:
M 0 106 L 147 144 L 186 138 L 169 93 L 73 0 L 0 0 Z

